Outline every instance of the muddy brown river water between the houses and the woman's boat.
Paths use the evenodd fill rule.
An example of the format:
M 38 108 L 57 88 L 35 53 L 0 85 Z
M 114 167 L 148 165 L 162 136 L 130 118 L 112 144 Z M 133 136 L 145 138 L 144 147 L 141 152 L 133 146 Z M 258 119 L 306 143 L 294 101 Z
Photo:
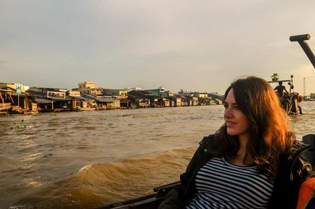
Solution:
M 290 118 L 315 133 L 315 102 Z M 0 117 L 0 208 L 97 208 L 179 180 L 223 106 Z

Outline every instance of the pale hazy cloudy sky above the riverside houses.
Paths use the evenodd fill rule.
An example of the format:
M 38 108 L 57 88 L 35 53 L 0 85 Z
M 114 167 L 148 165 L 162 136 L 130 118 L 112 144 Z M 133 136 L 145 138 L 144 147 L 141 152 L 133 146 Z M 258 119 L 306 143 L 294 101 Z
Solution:
M 242 76 L 315 70 L 293 35 L 314 35 L 315 1 L 0 0 L 0 82 L 72 89 L 221 92 Z

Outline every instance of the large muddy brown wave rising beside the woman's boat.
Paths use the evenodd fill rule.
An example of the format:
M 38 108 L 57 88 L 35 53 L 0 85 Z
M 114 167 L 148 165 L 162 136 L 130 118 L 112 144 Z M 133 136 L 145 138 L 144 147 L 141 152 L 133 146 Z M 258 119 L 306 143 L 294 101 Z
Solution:
M 153 193 L 153 188 L 179 180 L 194 148 L 164 150 L 112 163 L 96 163 L 75 176 L 37 186 L 19 208 L 97 208 Z

